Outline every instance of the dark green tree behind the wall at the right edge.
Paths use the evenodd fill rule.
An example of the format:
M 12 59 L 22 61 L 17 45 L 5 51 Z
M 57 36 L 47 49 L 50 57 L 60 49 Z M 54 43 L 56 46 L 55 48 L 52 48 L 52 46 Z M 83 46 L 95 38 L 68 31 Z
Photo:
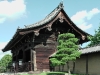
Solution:
M 94 46 L 100 44 L 100 26 L 98 30 L 95 30 L 94 36 L 89 38 L 90 38 L 90 43 L 88 44 L 88 46 Z

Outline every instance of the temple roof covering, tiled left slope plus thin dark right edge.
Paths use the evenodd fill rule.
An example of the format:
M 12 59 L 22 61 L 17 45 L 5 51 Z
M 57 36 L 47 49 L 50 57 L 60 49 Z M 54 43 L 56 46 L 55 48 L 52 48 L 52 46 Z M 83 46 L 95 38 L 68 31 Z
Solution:
M 20 35 L 19 32 L 24 32 L 24 31 L 28 31 L 28 29 L 33 30 L 31 28 L 35 28 L 35 27 L 38 27 L 38 26 L 42 26 L 42 25 L 46 25 L 48 23 L 50 23 L 52 20 L 55 19 L 55 17 L 59 14 L 60 11 L 63 11 L 63 3 L 61 2 L 49 15 L 47 15 L 43 20 L 35 23 L 35 24 L 31 24 L 31 25 L 25 25 L 25 28 L 19 28 L 17 29 L 16 33 L 14 34 L 13 38 L 9 41 L 9 43 L 5 46 L 5 48 L 2 50 L 2 51 L 7 51 L 7 50 L 10 50 L 12 48 L 12 45 L 14 44 L 17 44 L 15 43 L 16 40 L 20 40 L 21 38 L 23 38 L 24 36 Z M 68 15 L 63 12 L 66 16 L 66 18 L 69 20 L 69 22 L 72 23 L 73 27 L 75 27 L 79 32 L 82 32 L 84 35 L 90 35 L 84 31 L 82 31 L 80 28 L 78 28 L 71 20 L 70 18 L 68 17 Z

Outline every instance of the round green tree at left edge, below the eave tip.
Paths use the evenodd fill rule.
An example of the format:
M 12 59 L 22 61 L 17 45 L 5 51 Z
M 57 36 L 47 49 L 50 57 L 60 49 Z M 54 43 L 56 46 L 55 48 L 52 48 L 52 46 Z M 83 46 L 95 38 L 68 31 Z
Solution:
M 0 72 L 5 72 L 6 68 L 11 64 L 12 56 L 7 54 L 0 60 Z

